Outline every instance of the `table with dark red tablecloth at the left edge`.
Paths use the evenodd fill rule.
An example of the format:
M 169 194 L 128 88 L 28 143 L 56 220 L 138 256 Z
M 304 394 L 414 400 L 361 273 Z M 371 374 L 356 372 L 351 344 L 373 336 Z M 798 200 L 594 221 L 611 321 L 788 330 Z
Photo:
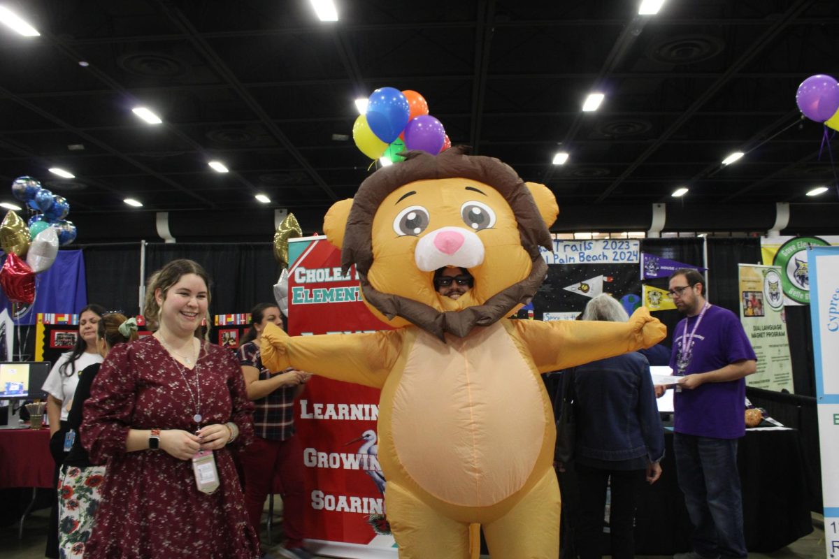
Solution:
M 32 488 L 32 499 L 20 517 L 29 515 L 39 488 L 53 489 L 55 463 L 50 455 L 50 429 L 0 427 L 0 489 Z

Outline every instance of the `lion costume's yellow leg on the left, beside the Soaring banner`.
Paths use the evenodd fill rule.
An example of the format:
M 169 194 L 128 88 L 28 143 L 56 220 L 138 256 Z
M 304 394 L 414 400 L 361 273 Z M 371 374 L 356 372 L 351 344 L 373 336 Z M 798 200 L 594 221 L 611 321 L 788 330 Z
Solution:
M 468 559 L 468 524 L 440 515 L 392 481 L 384 499 L 399 559 Z

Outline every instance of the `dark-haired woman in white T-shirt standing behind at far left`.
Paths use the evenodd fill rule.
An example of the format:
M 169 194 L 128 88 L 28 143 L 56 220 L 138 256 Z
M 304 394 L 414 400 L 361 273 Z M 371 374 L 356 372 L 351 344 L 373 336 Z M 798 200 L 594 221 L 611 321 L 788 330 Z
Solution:
M 105 308 L 91 303 L 79 312 L 79 335 L 76 345 L 67 353 L 61 354 L 50 370 L 47 380 L 41 390 L 47 393 L 47 419 L 50 422 L 50 454 L 55 460 L 53 487 L 57 487 L 60 477 L 61 463 L 70 451 L 73 443 L 67 437 L 67 416 L 73 405 L 73 395 L 79 384 L 79 375 L 88 365 L 102 363 L 102 355 L 96 349 L 96 323 L 102 318 Z M 58 547 L 58 501 L 55 500 L 50 511 L 49 531 L 47 532 L 47 548 L 44 556 L 59 557 Z

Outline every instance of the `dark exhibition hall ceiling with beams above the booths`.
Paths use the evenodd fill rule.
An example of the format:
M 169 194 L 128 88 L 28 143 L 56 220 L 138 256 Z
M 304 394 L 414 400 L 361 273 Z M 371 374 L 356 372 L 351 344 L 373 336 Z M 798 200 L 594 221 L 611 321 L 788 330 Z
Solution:
M 0 179 L 34 176 L 70 219 L 263 210 L 255 194 L 326 211 L 373 171 L 354 100 L 388 86 L 560 204 L 836 202 L 805 196 L 839 153 L 795 105 L 839 74 L 836 0 L 336 2 L 331 23 L 308 0 L 4 3 L 40 35 L 0 28 Z

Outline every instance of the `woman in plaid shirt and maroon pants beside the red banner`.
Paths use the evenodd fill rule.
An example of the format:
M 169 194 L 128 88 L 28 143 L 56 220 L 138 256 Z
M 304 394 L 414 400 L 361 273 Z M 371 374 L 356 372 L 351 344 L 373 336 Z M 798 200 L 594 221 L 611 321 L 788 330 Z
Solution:
M 259 342 L 265 325 L 282 327 L 282 315 L 274 303 L 260 303 L 251 309 L 251 328 L 239 348 L 239 362 L 253 412 L 253 443 L 242 452 L 245 477 L 245 507 L 253 529 L 259 533 L 265 498 L 279 474 L 283 495 L 285 546 L 276 551 L 284 557 L 308 559 L 303 547 L 303 450 L 294 437 L 294 399 L 300 396 L 310 374 L 301 370 L 271 371 L 259 357 Z

